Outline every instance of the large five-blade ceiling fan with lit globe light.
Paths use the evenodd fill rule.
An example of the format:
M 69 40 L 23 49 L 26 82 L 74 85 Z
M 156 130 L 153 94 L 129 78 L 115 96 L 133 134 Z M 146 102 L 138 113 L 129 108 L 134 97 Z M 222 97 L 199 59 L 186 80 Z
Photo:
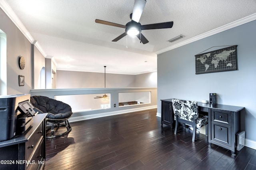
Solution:
M 96 19 L 95 22 L 105 24 L 105 25 L 111 25 L 114 27 L 125 28 L 124 33 L 122 33 L 121 35 L 119 35 L 118 37 L 116 37 L 115 39 L 112 40 L 114 42 L 120 40 L 121 38 L 125 37 L 126 35 L 130 35 L 130 36 L 137 36 L 138 39 L 140 39 L 140 42 L 142 42 L 143 44 L 146 44 L 149 41 L 141 33 L 141 30 L 171 28 L 173 25 L 173 21 L 141 25 L 139 23 L 139 21 L 140 21 L 140 17 L 142 15 L 145 5 L 146 5 L 146 0 L 135 0 L 134 1 L 133 11 L 132 11 L 132 14 L 130 14 L 130 19 L 132 21 L 126 23 L 126 25 L 121 25 L 118 23 L 112 23 L 112 22 L 98 20 L 98 19 Z

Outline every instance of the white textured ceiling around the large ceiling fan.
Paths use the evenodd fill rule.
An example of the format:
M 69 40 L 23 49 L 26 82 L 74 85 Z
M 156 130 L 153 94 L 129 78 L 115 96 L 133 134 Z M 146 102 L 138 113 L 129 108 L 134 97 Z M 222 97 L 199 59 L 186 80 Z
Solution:
M 157 53 L 256 13 L 256 0 L 147 0 L 142 25 L 174 21 L 170 29 L 144 30 L 137 37 L 112 40 L 124 29 L 134 0 L 0 0 L 8 4 L 57 70 L 141 74 L 157 70 Z M 9 10 L 10 11 L 10 10 Z M 169 39 L 184 38 L 173 43 Z

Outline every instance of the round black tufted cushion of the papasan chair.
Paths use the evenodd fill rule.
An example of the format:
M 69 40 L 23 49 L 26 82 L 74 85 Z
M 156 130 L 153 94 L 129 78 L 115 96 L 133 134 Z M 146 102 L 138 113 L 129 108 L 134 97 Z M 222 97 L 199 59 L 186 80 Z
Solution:
M 72 109 L 64 102 L 46 96 L 31 96 L 30 103 L 38 113 L 48 113 L 49 119 L 66 119 L 72 115 Z

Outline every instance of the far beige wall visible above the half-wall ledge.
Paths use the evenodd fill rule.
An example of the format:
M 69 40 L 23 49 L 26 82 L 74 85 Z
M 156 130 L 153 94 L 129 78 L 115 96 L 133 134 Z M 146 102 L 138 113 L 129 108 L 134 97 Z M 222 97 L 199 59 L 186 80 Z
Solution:
M 104 88 L 104 73 L 57 70 L 56 88 Z M 106 88 L 156 87 L 156 72 L 138 75 L 106 73 Z

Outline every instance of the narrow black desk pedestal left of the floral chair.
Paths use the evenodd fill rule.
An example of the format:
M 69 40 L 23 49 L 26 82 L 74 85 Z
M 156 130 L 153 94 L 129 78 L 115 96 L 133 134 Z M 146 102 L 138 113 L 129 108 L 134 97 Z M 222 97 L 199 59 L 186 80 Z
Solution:
M 165 124 L 172 127 L 173 114 L 172 114 L 172 100 L 161 100 L 161 125 Z

